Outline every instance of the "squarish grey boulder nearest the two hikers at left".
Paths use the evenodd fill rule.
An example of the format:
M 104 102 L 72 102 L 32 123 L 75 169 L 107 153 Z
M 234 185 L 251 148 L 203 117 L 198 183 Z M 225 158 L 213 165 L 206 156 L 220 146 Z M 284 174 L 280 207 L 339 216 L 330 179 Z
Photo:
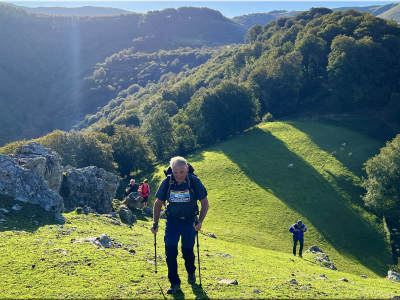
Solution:
M 89 206 L 102 214 L 111 212 L 111 201 L 119 187 L 117 175 L 95 166 L 81 169 L 67 166 L 64 172 L 60 195 L 66 208 Z

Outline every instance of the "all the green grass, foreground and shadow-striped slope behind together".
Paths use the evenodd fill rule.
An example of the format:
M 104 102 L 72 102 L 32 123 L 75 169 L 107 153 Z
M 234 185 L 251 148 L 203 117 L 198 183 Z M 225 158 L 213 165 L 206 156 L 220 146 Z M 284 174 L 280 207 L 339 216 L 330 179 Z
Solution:
M 347 146 L 342 153 L 338 150 L 343 142 Z M 151 219 L 117 226 L 103 216 L 74 211 L 64 214 L 66 224 L 60 228 L 40 207 L 0 196 L 0 207 L 23 206 L 1 217 L 5 221 L 0 224 L 0 295 L 163 299 L 162 290 L 169 299 L 393 297 L 400 288 L 382 278 L 390 264 L 383 225 L 364 209 L 359 197 L 362 164 L 382 146 L 340 127 L 276 122 L 189 155 L 209 192 L 210 210 L 202 233 L 213 233 L 217 239 L 199 236 L 203 289 L 186 283 L 179 256 L 183 292 L 174 297 L 165 294 L 169 283 L 163 230 L 157 238 L 161 256 L 154 273 Z M 330 155 L 334 150 L 336 157 Z M 292 169 L 287 168 L 289 163 L 294 164 Z M 163 168 L 137 176 L 150 180 L 152 194 L 164 177 Z M 33 218 L 38 225 L 32 223 L 32 214 L 40 214 Z M 290 255 L 288 228 L 299 218 L 309 229 L 305 248 L 318 245 L 338 271 L 320 267 L 311 255 L 303 260 Z M 164 221 L 160 226 L 164 228 Z M 102 233 L 122 247 L 102 251 L 89 243 L 71 242 Z M 129 253 L 131 249 L 135 254 Z M 326 280 L 317 279 L 322 273 Z M 343 277 L 349 282 L 337 281 Z M 292 278 L 299 285 L 286 282 Z M 220 279 L 239 284 L 225 286 L 218 284 Z

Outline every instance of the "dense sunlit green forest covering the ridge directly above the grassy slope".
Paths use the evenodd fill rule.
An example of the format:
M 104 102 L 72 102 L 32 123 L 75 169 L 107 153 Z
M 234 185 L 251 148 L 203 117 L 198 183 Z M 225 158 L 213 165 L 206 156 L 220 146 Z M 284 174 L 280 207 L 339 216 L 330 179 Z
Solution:
M 124 176 L 226 139 L 265 115 L 268 120 L 340 113 L 400 125 L 396 22 L 355 10 L 312 8 L 255 25 L 246 38 L 250 44 L 111 55 L 82 84 L 87 110 L 95 109 L 96 99 L 108 104 L 87 115 L 77 131 L 57 131 L 40 140 L 57 150 L 63 147 L 60 136 L 77 149 L 104 148 L 108 154 L 102 157 L 108 158 L 101 164 Z M 388 128 L 380 138 L 393 137 Z M 140 167 L 122 166 L 132 155 L 128 141 L 142 145 L 138 151 L 146 159 Z M 66 159 L 77 166 L 94 163 L 89 154 L 79 162 Z

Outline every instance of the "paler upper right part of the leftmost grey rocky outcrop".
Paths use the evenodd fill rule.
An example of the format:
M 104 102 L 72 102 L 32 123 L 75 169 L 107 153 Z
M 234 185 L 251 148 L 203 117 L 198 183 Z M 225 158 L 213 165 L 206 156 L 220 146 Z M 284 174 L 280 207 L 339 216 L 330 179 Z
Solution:
M 31 142 L 23 145 L 14 152 L 18 165 L 35 171 L 46 182 L 47 187 L 59 193 L 62 183 L 61 156 L 39 143 Z

